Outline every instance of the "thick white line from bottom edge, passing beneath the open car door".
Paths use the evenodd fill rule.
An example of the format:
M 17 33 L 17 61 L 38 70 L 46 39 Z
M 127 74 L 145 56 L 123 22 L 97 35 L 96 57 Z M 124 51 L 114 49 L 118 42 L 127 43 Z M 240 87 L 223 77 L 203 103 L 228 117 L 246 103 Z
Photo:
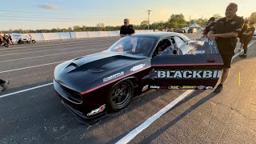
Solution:
M 256 42 L 256 41 L 254 41 Z M 248 49 L 251 45 L 254 44 L 254 42 L 251 42 L 248 46 Z M 241 54 L 242 51 L 238 54 Z M 233 58 L 237 57 L 238 54 L 236 54 Z M 232 59 L 233 59 L 232 58 Z M 133 138 L 135 138 L 142 130 L 145 130 L 148 126 L 150 126 L 154 121 L 156 121 L 158 118 L 162 116 L 162 114 L 165 114 L 168 110 L 170 110 L 172 107 L 174 107 L 178 102 L 181 102 L 183 98 L 186 98 L 188 94 L 191 94 L 194 90 L 186 90 L 185 93 L 180 95 L 178 98 L 176 98 L 173 102 L 170 102 L 166 107 L 162 108 L 162 110 L 158 111 L 157 114 L 154 114 L 152 117 L 148 118 L 145 122 L 143 122 L 140 126 L 136 127 L 134 130 L 130 131 L 129 134 L 121 138 L 117 144 L 124 144 L 130 142 Z

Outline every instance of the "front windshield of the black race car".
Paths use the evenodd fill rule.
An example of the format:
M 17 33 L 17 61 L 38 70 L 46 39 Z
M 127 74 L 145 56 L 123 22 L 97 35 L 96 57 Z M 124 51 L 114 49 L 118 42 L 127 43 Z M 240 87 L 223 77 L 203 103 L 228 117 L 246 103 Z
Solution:
M 148 56 L 154 46 L 154 42 L 154 38 L 128 36 L 115 42 L 114 45 L 110 46 L 108 51 Z

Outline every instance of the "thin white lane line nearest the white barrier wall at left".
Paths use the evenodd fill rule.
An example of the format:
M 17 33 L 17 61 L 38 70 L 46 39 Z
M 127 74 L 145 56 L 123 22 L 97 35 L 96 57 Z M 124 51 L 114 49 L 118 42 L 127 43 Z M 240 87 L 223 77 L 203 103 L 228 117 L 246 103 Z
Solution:
M 53 43 L 53 44 L 49 44 L 49 45 L 34 45 L 34 47 L 70 45 L 70 44 L 81 44 L 81 43 L 85 43 L 86 44 L 86 43 L 95 43 L 95 42 L 110 42 L 111 40 L 114 40 L 114 39 L 99 40 L 99 41 L 89 41 L 89 42 L 83 41 L 83 42 L 69 42 L 69 43 Z M 14 50 L 14 49 L 21 49 L 21 48 L 26 48 L 26 47 L 32 47 L 32 44 L 30 46 L 20 46 L 20 47 L 6 48 L 6 49 L 0 49 L 0 50 Z M 30 49 L 26 49 L 26 50 L 30 50 Z

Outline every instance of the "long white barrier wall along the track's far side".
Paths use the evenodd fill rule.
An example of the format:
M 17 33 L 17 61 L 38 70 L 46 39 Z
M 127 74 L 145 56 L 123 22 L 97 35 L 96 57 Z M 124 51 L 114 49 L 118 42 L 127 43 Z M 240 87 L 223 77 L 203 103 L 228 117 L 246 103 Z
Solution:
M 135 30 L 135 33 L 148 33 L 153 30 Z M 68 39 L 68 38 L 98 38 L 98 37 L 114 37 L 118 36 L 119 30 L 116 31 L 82 31 L 82 32 L 62 32 L 62 33 L 30 33 L 36 41 Z M 11 34 L 13 39 L 26 38 L 29 34 Z

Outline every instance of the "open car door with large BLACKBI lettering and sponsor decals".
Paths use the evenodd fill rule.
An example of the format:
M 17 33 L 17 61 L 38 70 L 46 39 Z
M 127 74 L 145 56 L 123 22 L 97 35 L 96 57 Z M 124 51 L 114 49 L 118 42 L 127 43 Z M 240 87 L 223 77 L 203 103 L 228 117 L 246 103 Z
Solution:
M 207 38 L 171 45 L 151 60 L 151 89 L 213 89 L 222 74 L 223 61 L 215 42 Z

